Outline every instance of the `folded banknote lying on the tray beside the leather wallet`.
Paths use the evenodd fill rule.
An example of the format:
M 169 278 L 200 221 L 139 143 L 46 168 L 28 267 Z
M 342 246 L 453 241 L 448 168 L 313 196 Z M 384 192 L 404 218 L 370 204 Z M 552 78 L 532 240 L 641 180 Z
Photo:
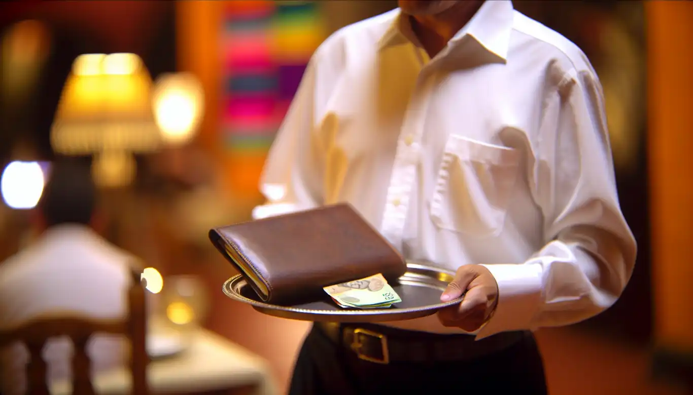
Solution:
M 402 301 L 380 273 L 323 289 L 337 305 L 345 308 L 383 309 Z

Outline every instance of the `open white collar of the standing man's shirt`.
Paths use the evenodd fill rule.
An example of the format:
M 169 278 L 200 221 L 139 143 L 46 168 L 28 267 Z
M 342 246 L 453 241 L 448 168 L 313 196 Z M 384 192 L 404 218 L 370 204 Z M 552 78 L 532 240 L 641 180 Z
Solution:
M 401 10 L 396 10 L 396 18 L 380 39 L 379 48 L 412 42 L 419 46 L 419 40 L 412 30 L 410 19 Z M 514 8 L 511 0 L 484 1 L 476 14 L 455 34 L 450 44 L 471 36 L 490 53 L 507 59 L 510 32 L 513 27 Z

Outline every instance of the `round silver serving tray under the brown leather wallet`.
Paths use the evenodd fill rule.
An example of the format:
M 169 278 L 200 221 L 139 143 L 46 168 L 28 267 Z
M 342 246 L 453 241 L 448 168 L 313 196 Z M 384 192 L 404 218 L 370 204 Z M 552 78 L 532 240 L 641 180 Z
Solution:
M 407 263 L 407 272 L 399 277 L 399 284 L 390 284 L 401 297 L 402 302 L 393 304 L 387 309 L 344 309 L 337 306 L 327 294 L 324 300 L 306 304 L 294 306 L 267 304 L 259 300 L 242 275 L 235 275 L 228 279 L 222 289 L 231 299 L 249 304 L 256 311 L 274 317 L 301 321 L 385 322 L 426 317 L 444 307 L 458 304 L 462 301 L 462 297 L 445 303 L 440 301 L 441 293 L 453 280 L 454 275 L 455 273 L 441 268 Z

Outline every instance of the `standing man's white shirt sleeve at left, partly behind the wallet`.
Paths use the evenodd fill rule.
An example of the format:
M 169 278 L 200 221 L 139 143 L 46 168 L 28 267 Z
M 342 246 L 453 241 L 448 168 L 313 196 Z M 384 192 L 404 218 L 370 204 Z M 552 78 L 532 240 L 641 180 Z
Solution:
M 322 203 L 322 157 L 315 138 L 315 58 L 311 59 L 265 160 L 253 218 L 308 210 Z

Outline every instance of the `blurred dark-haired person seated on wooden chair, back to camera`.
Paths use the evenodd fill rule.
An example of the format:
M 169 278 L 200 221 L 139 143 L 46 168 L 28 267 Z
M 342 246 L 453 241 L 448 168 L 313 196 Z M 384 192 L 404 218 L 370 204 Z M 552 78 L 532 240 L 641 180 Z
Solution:
M 98 320 L 128 314 L 130 270 L 139 261 L 100 237 L 96 194 L 87 165 L 53 165 L 33 217 L 39 237 L 0 264 L 0 330 L 46 316 Z M 46 343 L 49 383 L 71 377 L 72 351 L 68 338 Z M 96 335 L 87 352 L 94 374 L 123 364 L 127 348 L 123 338 Z M 28 360 L 19 342 L 0 350 L 2 394 L 24 394 Z

